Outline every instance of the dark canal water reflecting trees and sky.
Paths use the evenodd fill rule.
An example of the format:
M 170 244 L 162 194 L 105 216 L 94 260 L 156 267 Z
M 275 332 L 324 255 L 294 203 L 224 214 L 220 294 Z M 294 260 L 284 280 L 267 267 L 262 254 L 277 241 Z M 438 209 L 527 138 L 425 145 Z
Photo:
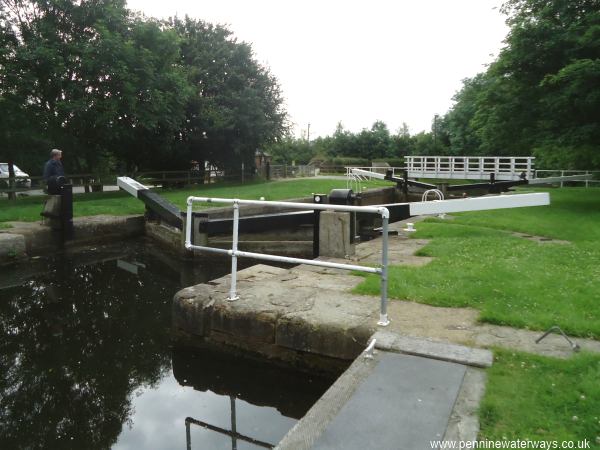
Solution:
M 0 448 L 277 444 L 333 380 L 170 342 L 174 293 L 227 270 L 143 240 L 0 269 Z

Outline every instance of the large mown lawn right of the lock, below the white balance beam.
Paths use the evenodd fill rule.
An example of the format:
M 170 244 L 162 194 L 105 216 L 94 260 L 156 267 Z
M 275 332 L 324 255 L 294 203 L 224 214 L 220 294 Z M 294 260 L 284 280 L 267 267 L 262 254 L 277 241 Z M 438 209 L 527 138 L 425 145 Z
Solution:
M 551 205 L 429 219 L 423 267 L 391 267 L 389 295 L 435 306 L 469 306 L 484 322 L 545 330 L 559 325 L 600 338 L 600 190 L 555 189 Z M 510 231 L 567 240 L 539 243 Z M 357 291 L 377 295 L 369 276 Z

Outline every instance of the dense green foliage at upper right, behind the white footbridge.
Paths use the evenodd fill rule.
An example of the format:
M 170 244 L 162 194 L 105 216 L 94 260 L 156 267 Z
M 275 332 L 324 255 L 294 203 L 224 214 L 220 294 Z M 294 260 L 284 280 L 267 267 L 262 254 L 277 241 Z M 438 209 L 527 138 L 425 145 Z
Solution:
M 600 2 L 509 0 L 506 46 L 447 114 L 453 154 L 600 167 Z

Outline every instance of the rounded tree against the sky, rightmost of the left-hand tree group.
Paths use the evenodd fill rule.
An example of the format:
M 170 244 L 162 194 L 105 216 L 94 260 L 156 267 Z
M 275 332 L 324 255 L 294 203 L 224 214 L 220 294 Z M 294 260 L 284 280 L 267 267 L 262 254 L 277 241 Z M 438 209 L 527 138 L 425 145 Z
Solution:
M 189 17 L 171 25 L 193 90 L 182 144 L 197 161 L 251 167 L 255 151 L 288 128 L 277 80 L 256 62 L 251 46 L 237 42 L 227 28 Z

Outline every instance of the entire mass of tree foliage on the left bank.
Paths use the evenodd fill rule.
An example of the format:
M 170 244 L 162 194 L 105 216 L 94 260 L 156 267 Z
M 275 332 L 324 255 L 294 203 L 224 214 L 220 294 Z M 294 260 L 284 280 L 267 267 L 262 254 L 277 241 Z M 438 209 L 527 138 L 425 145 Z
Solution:
M 52 147 L 71 173 L 251 167 L 286 130 L 277 80 L 248 44 L 124 0 L 0 0 L 0 115 L 0 160 L 32 175 Z

